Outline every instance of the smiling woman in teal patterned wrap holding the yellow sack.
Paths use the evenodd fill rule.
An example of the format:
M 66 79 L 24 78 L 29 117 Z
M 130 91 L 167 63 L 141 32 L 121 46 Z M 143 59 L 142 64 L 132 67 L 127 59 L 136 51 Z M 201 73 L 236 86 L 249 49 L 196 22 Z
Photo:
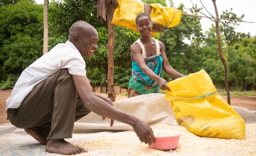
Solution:
M 169 90 L 162 70 L 172 77 L 184 77 L 169 65 L 164 44 L 151 38 L 150 16 L 139 13 L 136 18 L 137 30 L 141 37 L 131 45 L 132 78 L 129 81 L 128 97 L 139 94 L 159 93 L 159 88 Z

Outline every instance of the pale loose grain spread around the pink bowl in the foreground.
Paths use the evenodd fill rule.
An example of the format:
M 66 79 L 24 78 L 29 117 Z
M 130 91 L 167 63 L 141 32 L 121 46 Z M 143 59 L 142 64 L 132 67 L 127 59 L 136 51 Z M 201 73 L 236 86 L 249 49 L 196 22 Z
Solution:
M 87 153 L 80 155 L 256 155 L 256 125 L 246 124 L 245 140 L 225 140 L 198 137 L 181 126 L 151 126 L 156 136 L 181 133 L 178 147 L 174 150 L 153 150 L 133 131 L 111 133 L 85 143 L 74 143 L 84 147 Z

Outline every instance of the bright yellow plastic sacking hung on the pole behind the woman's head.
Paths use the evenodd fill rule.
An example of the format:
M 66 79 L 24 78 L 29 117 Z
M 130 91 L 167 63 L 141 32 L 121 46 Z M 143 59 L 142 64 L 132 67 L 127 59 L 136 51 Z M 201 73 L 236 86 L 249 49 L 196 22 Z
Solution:
M 153 24 L 171 28 L 181 22 L 182 12 L 178 9 L 164 7 L 161 4 L 150 4 L 150 6 L 152 7 L 150 16 Z M 135 18 L 139 12 L 144 12 L 144 4 L 142 2 L 119 0 L 117 8 L 114 9 L 111 23 L 137 31 Z

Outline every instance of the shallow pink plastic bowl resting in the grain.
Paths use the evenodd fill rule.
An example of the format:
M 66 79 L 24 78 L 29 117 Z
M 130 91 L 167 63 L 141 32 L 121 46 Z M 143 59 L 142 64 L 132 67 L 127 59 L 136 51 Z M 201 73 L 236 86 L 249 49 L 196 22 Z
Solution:
M 149 145 L 149 148 L 156 150 L 171 150 L 178 147 L 178 140 L 181 135 L 174 135 L 168 137 L 156 137 L 156 143 Z

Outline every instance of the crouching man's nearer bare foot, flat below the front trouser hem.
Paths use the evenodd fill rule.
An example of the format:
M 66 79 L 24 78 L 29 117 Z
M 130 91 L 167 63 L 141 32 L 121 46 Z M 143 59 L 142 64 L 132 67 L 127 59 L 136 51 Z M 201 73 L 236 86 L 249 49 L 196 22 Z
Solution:
M 77 155 L 82 152 L 87 152 L 82 147 L 72 145 L 64 139 L 50 139 L 46 144 L 46 152 L 58 153 L 61 155 Z

